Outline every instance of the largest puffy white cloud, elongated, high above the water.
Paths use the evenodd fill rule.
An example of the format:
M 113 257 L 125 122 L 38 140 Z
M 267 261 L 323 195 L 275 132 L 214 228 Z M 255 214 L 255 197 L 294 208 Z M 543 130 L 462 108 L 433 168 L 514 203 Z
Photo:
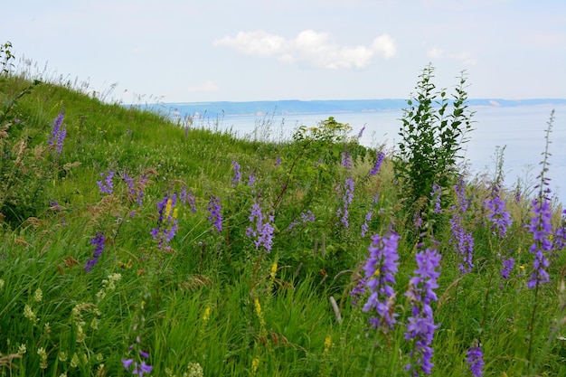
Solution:
M 286 63 L 302 62 L 329 70 L 362 69 L 376 55 L 391 59 L 397 53 L 395 42 L 382 34 L 369 46 L 341 46 L 329 40 L 328 33 L 305 30 L 293 39 L 264 31 L 240 32 L 214 41 L 215 46 L 227 46 L 251 56 L 277 57 Z

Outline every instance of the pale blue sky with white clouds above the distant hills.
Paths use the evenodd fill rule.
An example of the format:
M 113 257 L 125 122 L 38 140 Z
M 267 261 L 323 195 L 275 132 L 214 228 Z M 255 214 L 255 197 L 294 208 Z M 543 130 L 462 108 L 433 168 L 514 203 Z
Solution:
M 125 103 L 566 98 L 563 0 L 18 0 L 16 69 Z

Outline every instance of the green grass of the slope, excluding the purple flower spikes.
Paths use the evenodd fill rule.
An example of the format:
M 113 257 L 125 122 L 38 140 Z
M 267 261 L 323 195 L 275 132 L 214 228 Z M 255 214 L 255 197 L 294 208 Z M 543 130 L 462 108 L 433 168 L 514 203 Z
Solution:
M 10 98 L 27 83 L 10 78 L 0 85 Z M 63 153 L 55 156 L 41 148 L 61 111 L 67 137 Z M 184 375 L 189 363 L 199 363 L 211 376 L 406 375 L 410 344 L 401 325 L 387 335 L 368 330 L 367 315 L 347 299 L 354 269 L 371 243 L 359 229 L 373 209 L 371 234 L 385 234 L 393 224 L 401 235 L 396 311 L 400 324 L 410 316 L 403 292 L 415 269 L 418 238 L 410 214 L 402 214 L 398 204 L 391 165 L 368 176 L 373 152 L 351 146 L 358 157 L 347 172 L 339 158 L 331 158 L 329 145 L 276 146 L 203 129 L 185 132 L 155 114 L 51 84 L 20 99 L 17 117 L 11 137 L 28 140 L 26 161 L 37 160 L 38 171 L 30 172 L 43 190 L 32 218 L 16 217 L 14 229 L 6 223 L 2 228 L 0 353 L 20 349 L 22 356 L 12 367 L 0 366 L 6 375 L 42 375 L 40 348 L 47 353 L 46 375 L 101 370 L 127 375 L 121 359 L 139 357 L 136 347 L 149 353 L 155 375 Z M 244 176 L 236 186 L 232 161 L 240 163 Z M 111 195 L 100 193 L 96 184 L 108 169 L 117 172 Z M 254 186 L 246 184 L 251 174 Z M 147 176 L 141 206 L 118 175 L 132 177 L 137 190 Z M 350 228 L 344 229 L 335 217 L 342 205 L 335 187 L 344 187 L 349 176 L 356 185 Z M 159 250 L 149 234 L 159 219 L 156 203 L 184 186 L 193 192 L 197 211 L 178 204 L 177 234 L 169 248 Z M 373 204 L 375 193 L 380 197 Z M 211 195 L 222 199 L 220 233 L 207 219 Z M 560 335 L 555 322 L 563 316 L 557 304 L 563 298 L 557 288 L 563 257 L 552 259 L 553 284 L 535 295 L 524 287 L 533 260 L 532 239 L 523 227 L 529 204 L 508 202 L 514 225 L 502 240 L 486 222 L 482 184 L 469 186 L 467 195 L 471 208 L 464 223 L 475 238 L 475 269 L 464 276 L 458 272 L 459 259 L 448 242 L 449 213 L 439 217 L 435 234 L 443 259 L 439 303 L 433 305 L 441 324 L 433 343 L 433 374 L 469 374 L 466 350 L 477 338 L 488 375 L 525 374 L 531 337 L 534 371 L 562 375 L 566 349 L 555 341 Z M 276 216 L 269 254 L 258 252 L 246 237 L 252 203 Z M 316 221 L 289 230 L 308 210 Z M 90 241 L 99 231 L 106 237 L 104 252 L 85 272 L 94 249 Z M 508 279 L 499 275 L 502 255 L 515 258 Z M 113 283 L 108 277 L 118 273 L 121 278 Z M 335 320 L 330 295 L 341 307 L 342 324 Z M 29 311 L 24 315 L 25 306 L 35 319 Z M 128 350 L 131 344 L 135 348 Z

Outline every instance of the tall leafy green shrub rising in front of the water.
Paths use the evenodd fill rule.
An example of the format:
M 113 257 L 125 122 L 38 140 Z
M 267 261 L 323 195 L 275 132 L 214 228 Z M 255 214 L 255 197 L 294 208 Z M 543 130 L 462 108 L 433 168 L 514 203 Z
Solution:
M 436 90 L 434 67 L 422 70 L 416 93 L 403 110 L 402 141 L 393 157 L 395 176 L 404 184 L 402 193 L 412 206 L 429 197 L 432 185 L 447 188 L 458 175 L 458 153 L 469 139 L 473 112 L 467 110 L 466 75 L 459 76 L 456 93 L 449 100 L 446 90 Z

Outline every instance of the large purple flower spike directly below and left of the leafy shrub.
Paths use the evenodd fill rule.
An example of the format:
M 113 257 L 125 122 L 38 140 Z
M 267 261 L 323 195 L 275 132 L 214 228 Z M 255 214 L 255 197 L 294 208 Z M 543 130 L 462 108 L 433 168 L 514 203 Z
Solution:
M 362 310 L 367 313 L 374 309 L 377 313 L 377 316 L 370 317 L 373 328 L 392 328 L 396 323 L 398 315 L 394 313 L 395 292 L 392 286 L 399 266 L 399 239 L 395 231 L 385 237 L 373 235 L 370 255 L 363 266 L 365 287 L 371 294 Z

